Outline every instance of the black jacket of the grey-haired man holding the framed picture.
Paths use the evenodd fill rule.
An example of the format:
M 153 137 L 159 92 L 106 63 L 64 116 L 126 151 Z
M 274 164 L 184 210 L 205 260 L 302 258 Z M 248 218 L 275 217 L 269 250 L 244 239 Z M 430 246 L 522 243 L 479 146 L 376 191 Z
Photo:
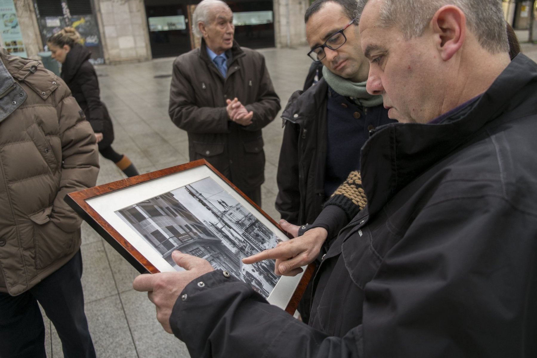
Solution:
M 519 54 L 442 123 L 371 136 L 369 202 L 321 263 L 312 326 L 212 272 L 173 332 L 192 357 L 537 356 L 536 93 Z

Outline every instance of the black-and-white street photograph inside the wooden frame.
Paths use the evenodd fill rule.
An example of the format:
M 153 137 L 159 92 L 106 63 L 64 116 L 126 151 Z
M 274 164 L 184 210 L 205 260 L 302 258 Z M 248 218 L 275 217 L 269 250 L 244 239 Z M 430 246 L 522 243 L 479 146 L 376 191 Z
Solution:
M 271 249 L 279 238 L 224 188 L 208 177 L 115 212 L 175 269 L 179 250 L 229 271 L 267 298 L 278 282 L 274 261 L 242 259 Z

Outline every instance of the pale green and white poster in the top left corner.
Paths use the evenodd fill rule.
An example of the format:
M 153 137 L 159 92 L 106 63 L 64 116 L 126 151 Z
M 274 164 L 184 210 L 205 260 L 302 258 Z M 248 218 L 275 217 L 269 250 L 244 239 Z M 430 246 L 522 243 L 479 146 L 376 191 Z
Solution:
M 0 31 L 2 47 L 10 54 L 28 57 L 13 0 L 0 0 Z

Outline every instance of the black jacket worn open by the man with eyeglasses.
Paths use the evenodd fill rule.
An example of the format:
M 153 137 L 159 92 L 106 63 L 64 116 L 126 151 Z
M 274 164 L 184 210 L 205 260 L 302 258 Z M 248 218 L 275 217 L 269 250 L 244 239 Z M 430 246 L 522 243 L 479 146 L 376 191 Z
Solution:
M 326 200 L 328 90 L 328 84 L 321 78 L 307 91 L 294 92 L 281 115 L 285 129 L 278 162 L 275 206 L 281 218 L 295 225 L 313 223 Z M 345 107 L 340 107 L 341 115 L 352 116 L 353 110 L 347 109 L 351 104 L 343 96 L 338 95 L 338 99 L 345 102 Z M 355 138 L 359 147 L 366 142 L 371 128 L 393 122 L 382 105 L 358 111 L 360 118 L 356 120 L 371 125 L 368 128 L 365 124 L 364 131 Z M 357 152 L 356 156 L 359 155 Z

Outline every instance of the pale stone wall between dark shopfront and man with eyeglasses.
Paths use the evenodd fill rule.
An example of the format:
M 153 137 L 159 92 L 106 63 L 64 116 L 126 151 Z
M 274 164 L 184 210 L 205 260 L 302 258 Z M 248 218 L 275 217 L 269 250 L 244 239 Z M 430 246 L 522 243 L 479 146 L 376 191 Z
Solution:
M 276 47 L 307 45 L 304 13 L 308 0 L 274 0 Z

